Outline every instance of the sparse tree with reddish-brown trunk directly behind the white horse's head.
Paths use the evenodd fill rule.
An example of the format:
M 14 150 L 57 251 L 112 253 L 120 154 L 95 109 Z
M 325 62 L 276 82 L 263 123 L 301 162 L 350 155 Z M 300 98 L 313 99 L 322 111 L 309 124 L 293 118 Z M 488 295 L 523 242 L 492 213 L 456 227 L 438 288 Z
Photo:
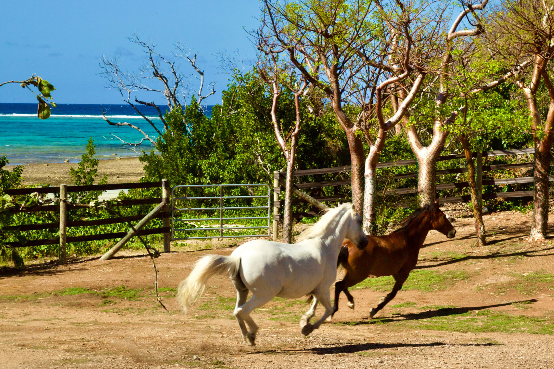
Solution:
M 304 75 L 312 90 L 325 97 L 346 133 L 352 164 L 352 199 L 361 214 L 363 208 L 363 141 L 356 122 L 344 109 L 345 91 L 357 70 L 347 67 L 356 58 L 356 48 L 371 43 L 375 34 L 365 26 L 372 10 L 365 0 L 306 1 L 288 7 L 285 2 L 264 0 L 259 34 L 274 38 L 289 55 L 291 63 Z M 317 93 L 310 91 L 311 96 Z

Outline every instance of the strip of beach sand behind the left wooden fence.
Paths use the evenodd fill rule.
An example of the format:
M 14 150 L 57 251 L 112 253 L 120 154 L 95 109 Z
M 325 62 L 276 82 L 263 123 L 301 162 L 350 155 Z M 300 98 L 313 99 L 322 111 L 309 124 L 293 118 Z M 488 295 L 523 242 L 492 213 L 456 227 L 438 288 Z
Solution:
M 6 165 L 4 169 L 12 170 L 13 167 L 14 165 Z M 77 168 L 77 163 L 27 164 L 23 170 L 22 184 L 73 185 L 69 174 L 71 167 Z M 137 182 L 144 175 L 143 167 L 144 164 L 139 162 L 139 158 L 100 160 L 96 178 L 102 178 L 104 174 L 107 174 L 107 183 Z

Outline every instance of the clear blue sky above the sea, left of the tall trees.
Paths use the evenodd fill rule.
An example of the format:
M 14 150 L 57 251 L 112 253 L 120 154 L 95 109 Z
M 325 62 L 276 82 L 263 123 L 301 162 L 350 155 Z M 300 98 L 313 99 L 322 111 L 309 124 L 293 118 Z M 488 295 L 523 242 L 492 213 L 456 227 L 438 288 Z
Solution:
M 247 30 L 258 27 L 259 6 L 258 0 L 6 1 L 0 22 L 0 83 L 36 73 L 56 87 L 58 103 L 121 103 L 117 91 L 105 88 L 99 61 L 102 55 L 121 55 L 122 66 L 138 69 L 145 56 L 126 39 L 136 31 L 143 39 L 153 38 L 158 52 L 170 58 L 175 41 L 198 52 L 206 82 L 217 82 L 216 95 L 205 100 L 213 105 L 220 102 L 228 79 L 214 54 L 238 50 L 245 61 L 255 58 Z M 181 65 L 187 74 L 192 72 Z M 163 102 L 151 95 L 152 100 Z M 0 87 L 0 102 L 36 101 L 16 84 Z

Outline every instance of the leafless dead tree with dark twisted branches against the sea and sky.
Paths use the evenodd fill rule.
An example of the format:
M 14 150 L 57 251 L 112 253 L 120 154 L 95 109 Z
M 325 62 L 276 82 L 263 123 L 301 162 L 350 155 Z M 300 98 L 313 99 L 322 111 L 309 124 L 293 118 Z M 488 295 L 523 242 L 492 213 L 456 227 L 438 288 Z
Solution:
M 117 90 L 123 101 L 131 106 L 148 124 L 154 129 L 158 135 L 170 131 L 165 118 L 163 117 L 162 110 L 155 102 L 141 101 L 137 98 L 136 93 L 155 93 L 157 96 L 163 96 L 166 100 L 168 110 L 172 111 L 177 106 L 186 106 L 186 97 L 194 96 L 198 103 L 201 103 L 205 98 L 216 93 L 215 83 L 209 84 L 209 92 L 204 94 L 204 71 L 197 65 L 198 53 L 191 56 L 191 49 L 180 43 L 175 44 L 177 51 L 173 53 L 175 60 L 169 60 L 165 56 L 158 54 L 155 51 L 156 44 L 153 41 L 143 41 L 136 33 L 132 34 L 128 38 L 131 43 L 134 43 L 146 54 L 146 62 L 140 67 L 138 71 L 127 71 L 121 66 L 121 59 L 111 58 L 108 59 L 104 56 L 100 61 L 100 68 L 102 69 L 101 75 L 107 81 L 107 87 Z M 179 64 L 177 60 L 184 59 L 188 64 L 192 66 L 196 74 L 184 75 L 179 71 Z M 189 77 L 196 76 L 199 80 L 199 87 L 197 90 L 193 90 L 193 87 L 189 83 Z M 161 126 L 153 119 L 147 117 L 142 111 L 141 106 L 150 106 L 156 109 L 158 118 L 160 118 Z M 156 137 L 148 135 L 145 131 L 135 126 L 134 124 L 127 122 L 112 122 L 106 115 L 105 111 L 102 112 L 104 120 L 112 126 L 127 126 L 139 131 L 143 138 L 139 142 L 126 142 L 120 137 L 114 136 L 124 144 L 132 147 L 137 147 L 144 141 L 149 141 L 153 145 L 156 144 Z

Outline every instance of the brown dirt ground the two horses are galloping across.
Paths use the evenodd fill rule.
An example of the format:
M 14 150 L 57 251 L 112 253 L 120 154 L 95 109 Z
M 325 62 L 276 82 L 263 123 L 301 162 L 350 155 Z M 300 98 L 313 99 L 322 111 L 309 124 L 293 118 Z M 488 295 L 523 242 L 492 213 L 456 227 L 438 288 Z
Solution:
M 332 323 L 308 337 L 304 299 L 274 299 L 253 313 L 255 347 L 240 339 L 228 278 L 211 279 L 188 315 L 173 299 L 197 257 L 234 247 L 190 250 L 234 240 L 174 244 L 156 259 L 171 315 L 156 303 L 145 254 L 4 269 L 0 368 L 554 368 L 554 246 L 520 240 L 530 214 L 485 223 L 490 243 L 479 248 L 470 217 L 456 217 L 452 240 L 430 232 L 405 288 L 371 320 L 386 277 L 351 289 L 355 310 L 341 295 Z

